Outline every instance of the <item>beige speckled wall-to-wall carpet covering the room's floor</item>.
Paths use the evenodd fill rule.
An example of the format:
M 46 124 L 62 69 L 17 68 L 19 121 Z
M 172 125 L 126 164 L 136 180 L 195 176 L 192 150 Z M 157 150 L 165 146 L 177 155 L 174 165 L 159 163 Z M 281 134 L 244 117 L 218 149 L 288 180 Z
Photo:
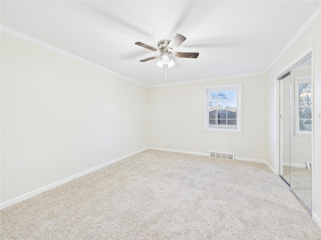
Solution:
M 145 150 L 1 212 L 2 239 L 320 239 L 262 163 Z

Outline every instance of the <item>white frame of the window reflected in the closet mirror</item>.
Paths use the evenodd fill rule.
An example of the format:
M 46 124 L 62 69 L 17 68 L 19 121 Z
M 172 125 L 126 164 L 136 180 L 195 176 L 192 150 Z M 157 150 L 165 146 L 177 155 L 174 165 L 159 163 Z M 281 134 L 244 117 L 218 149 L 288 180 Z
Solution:
M 294 78 L 294 85 L 295 85 L 295 110 L 294 110 L 294 135 L 295 136 L 311 136 L 312 131 L 303 131 L 300 130 L 299 127 L 299 84 L 312 84 L 311 76 L 303 76 L 303 77 L 295 77 Z M 312 96 L 313 97 L 313 96 Z M 312 105 L 309 106 L 312 109 Z M 312 121 L 312 118 L 311 118 Z

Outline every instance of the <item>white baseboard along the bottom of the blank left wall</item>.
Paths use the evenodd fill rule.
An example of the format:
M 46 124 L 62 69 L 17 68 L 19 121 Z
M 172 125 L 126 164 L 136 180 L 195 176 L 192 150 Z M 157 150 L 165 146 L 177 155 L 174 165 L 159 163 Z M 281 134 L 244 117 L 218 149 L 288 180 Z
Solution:
M 100 164 L 100 165 L 98 165 L 98 166 L 92 167 L 92 168 L 90 168 L 90 169 L 88 169 L 88 170 L 79 172 L 79 173 L 77 173 L 77 174 L 74 174 L 74 175 L 72 175 L 72 176 L 66 177 L 66 178 L 64 178 L 64 179 L 61 179 L 61 180 L 56 181 L 56 182 L 54 182 L 54 183 L 51 183 L 51 184 L 49 184 L 49 185 L 40 187 L 40 188 L 38 188 L 38 189 L 36 189 L 36 190 L 33 190 L 33 191 L 31 191 L 31 192 L 25 193 L 25 194 L 23 194 L 23 195 L 20 195 L 20 196 L 17 196 L 17 197 L 15 197 L 15 198 L 13 198 L 13 199 L 10 199 L 10 200 L 7 200 L 7 201 L 5 201 L 5 202 L 2 202 L 2 203 L 0 203 L 0 209 L 6 208 L 6 207 L 8 207 L 8 206 L 10 206 L 10 205 L 16 204 L 16 203 L 18 203 L 18 202 L 20 202 L 20 201 L 23 201 L 23 200 L 26 200 L 26 199 L 28 199 L 28 198 L 30 198 L 30 197 L 32 197 L 32 196 L 38 195 L 38 194 L 40 194 L 40 193 L 42 193 L 42 192 L 44 192 L 44 191 L 50 190 L 50 189 L 52 189 L 52 188 L 54 188 L 54 187 L 57 187 L 57 186 L 59 186 L 59 185 L 62 185 L 62 184 L 64 184 L 64 183 L 66 183 L 66 182 L 68 182 L 68 181 L 71 181 L 71 180 L 74 180 L 74 179 L 76 179 L 76 178 L 78 178 L 78 177 L 84 176 L 84 175 L 86 175 L 86 174 L 88 174 L 88 173 L 90 173 L 90 172 L 96 171 L 96 170 L 98 170 L 98 169 L 100 169 L 100 168 L 102 168 L 102 167 L 108 166 L 108 165 L 110 165 L 110 164 L 112 164 L 112 163 L 115 163 L 115 162 L 117 162 L 117 161 L 120 161 L 120 160 L 122 160 L 122 159 L 124 159 L 124 158 L 126 158 L 126 157 L 132 156 L 132 155 L 137 154 L 137 153 L 139 153 L 139 152 L 141 152 L 141 151 L 143 151 L 143 150 L 146 150 L 146 149 L 148 149 L 148 147 L 144 147 L 144 148 L 139 149 L 139 150 L 137 150 L 137 151 L 131 152 L 131 153 L 126 154 L 126 155 L 124 155 L 124 156 L 121 156 L 121 157 L 118 157 L 118 158 L 116 158 L 116 159 L 107 161 L 107 162 L 105 162 L 105 163 L 103 163 L 103 164 Z

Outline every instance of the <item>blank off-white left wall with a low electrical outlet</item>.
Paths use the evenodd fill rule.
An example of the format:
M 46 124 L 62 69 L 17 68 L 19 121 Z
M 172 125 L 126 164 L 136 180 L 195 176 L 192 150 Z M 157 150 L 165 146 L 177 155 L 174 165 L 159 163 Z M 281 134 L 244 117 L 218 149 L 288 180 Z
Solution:
M 146 109 L 146 87 L 2 33 L 1 202 L 146 147 Z

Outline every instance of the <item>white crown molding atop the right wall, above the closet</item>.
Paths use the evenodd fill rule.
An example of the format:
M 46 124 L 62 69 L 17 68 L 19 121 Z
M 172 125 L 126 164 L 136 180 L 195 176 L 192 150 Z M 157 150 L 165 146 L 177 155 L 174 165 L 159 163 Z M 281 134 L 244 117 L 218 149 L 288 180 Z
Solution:
M 321 5 L 316 8 L 312 15 L 300 27 L 300 29 L 292 36 L 288 43 L 283 47 L 279 54 L 273 59 L 270 65 L 265 69 L 267 73 L 271 68 L 290 50 L 290 48 L 303 36 L 303 34 L 321 17 Z

